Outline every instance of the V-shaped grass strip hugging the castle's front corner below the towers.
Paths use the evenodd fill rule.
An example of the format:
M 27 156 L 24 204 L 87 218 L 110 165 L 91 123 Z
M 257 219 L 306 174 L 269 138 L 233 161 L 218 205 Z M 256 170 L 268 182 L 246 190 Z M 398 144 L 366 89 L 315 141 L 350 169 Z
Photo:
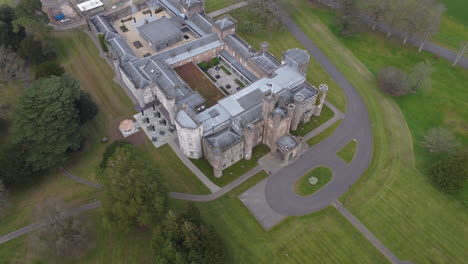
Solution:
M 251 169 L 257 166 L 257 161 L 270 152 L 270 149 L 266 145 L 258 145 L 252 150 L 252 158 L 250 160 L 242 159 L 234 165 L 223 170 L 223 176 L 216 178 L 214 176 L 213 167 L 204 158 L 191 160 L 195 166 L 197 166 L 214 184 L 223 187 L 244 175 Z

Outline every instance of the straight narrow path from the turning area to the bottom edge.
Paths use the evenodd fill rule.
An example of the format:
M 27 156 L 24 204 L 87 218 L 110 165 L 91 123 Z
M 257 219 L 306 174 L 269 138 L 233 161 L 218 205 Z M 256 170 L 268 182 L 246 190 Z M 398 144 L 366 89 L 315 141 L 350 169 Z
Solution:
M 360 221 L 357 219 L 348 209 L 346 209 L 342 203 L 335 201 L 333 206 L 336 207 L 338 212 L 340 212 L 348 221 L 357 229 L 361 234 L 363 234 L 369 242 L 376 247 L 382 255 L 384 255 L 392 264 L 409 264 L 411 262 L 401 261 L 395 256 L 387 247 L 385 247 L 380 240 L 378 240 Z

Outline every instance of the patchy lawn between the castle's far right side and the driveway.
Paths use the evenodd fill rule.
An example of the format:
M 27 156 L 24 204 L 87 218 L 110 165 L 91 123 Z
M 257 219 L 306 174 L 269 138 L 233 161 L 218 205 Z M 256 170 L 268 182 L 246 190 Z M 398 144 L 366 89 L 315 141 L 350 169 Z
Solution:
M 278 29 L 274 32 L 249 32 L 246 28 L 249 26 L 245 24 L 247 20 L 259 19 L 254 16 L 252 12 L 249 12 L 249 7 L 243 7 L 229 13 L 239 22 L 237 33 L 249 44 L 255 47 L 257 50 L 260 49 L 261 42 L 268 42 L 270 44 L 269 51 L 276 56 L 278 59 L 283 58 L 283 52 L 293 48 L 304 48 L 299 41 L 286 29 Z M 244 21 L 244 23 L 242 23 Z M 329 91 L 327 93 L 327 100 L 335 105 L 342 112 L 346 111 L 346 98 L 343 91 L 339 89 L 335 81 L 330 78 L 328 73 L 318 64 L 314 58 L 310 58 L 310 64 L 307 71 L 307 80 L 318 87 L 324 83 L 328 85 Z

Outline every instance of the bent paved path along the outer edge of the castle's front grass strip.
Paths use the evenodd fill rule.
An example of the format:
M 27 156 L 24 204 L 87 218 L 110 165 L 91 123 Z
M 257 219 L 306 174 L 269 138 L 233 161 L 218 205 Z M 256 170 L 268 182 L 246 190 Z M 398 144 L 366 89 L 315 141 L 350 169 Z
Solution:
M 171 193 L 171 197 L 179 200 L 188 200 L 188 201 L 195 201 L 195 202 L 209 202 L 219 197 L 225 195 L 226 193 L 230 192 L 232 189 L 236 188 L 237 186 L 241 185 L 255 174 L 261 172 L 263 168 L 261 166 L 257 166 L 251 169 L 246 174 L 240 176 L 239 178 L 232 181 L 230 184 L 224 186 L 223 188 L 219 188 L 218 190 L 213 192 L 212 194 L 208 195 L 196 195 L 196 194 L 186 194 L 186 193 Z

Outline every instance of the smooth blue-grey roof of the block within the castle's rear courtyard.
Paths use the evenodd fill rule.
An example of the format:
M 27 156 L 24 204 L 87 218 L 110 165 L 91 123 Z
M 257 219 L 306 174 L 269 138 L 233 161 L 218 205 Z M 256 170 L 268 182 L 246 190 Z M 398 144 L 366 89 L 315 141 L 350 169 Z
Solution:
M 140 35 L 154 46 L 182 35 L 178 25 L 166 17 L 138 27 Z

